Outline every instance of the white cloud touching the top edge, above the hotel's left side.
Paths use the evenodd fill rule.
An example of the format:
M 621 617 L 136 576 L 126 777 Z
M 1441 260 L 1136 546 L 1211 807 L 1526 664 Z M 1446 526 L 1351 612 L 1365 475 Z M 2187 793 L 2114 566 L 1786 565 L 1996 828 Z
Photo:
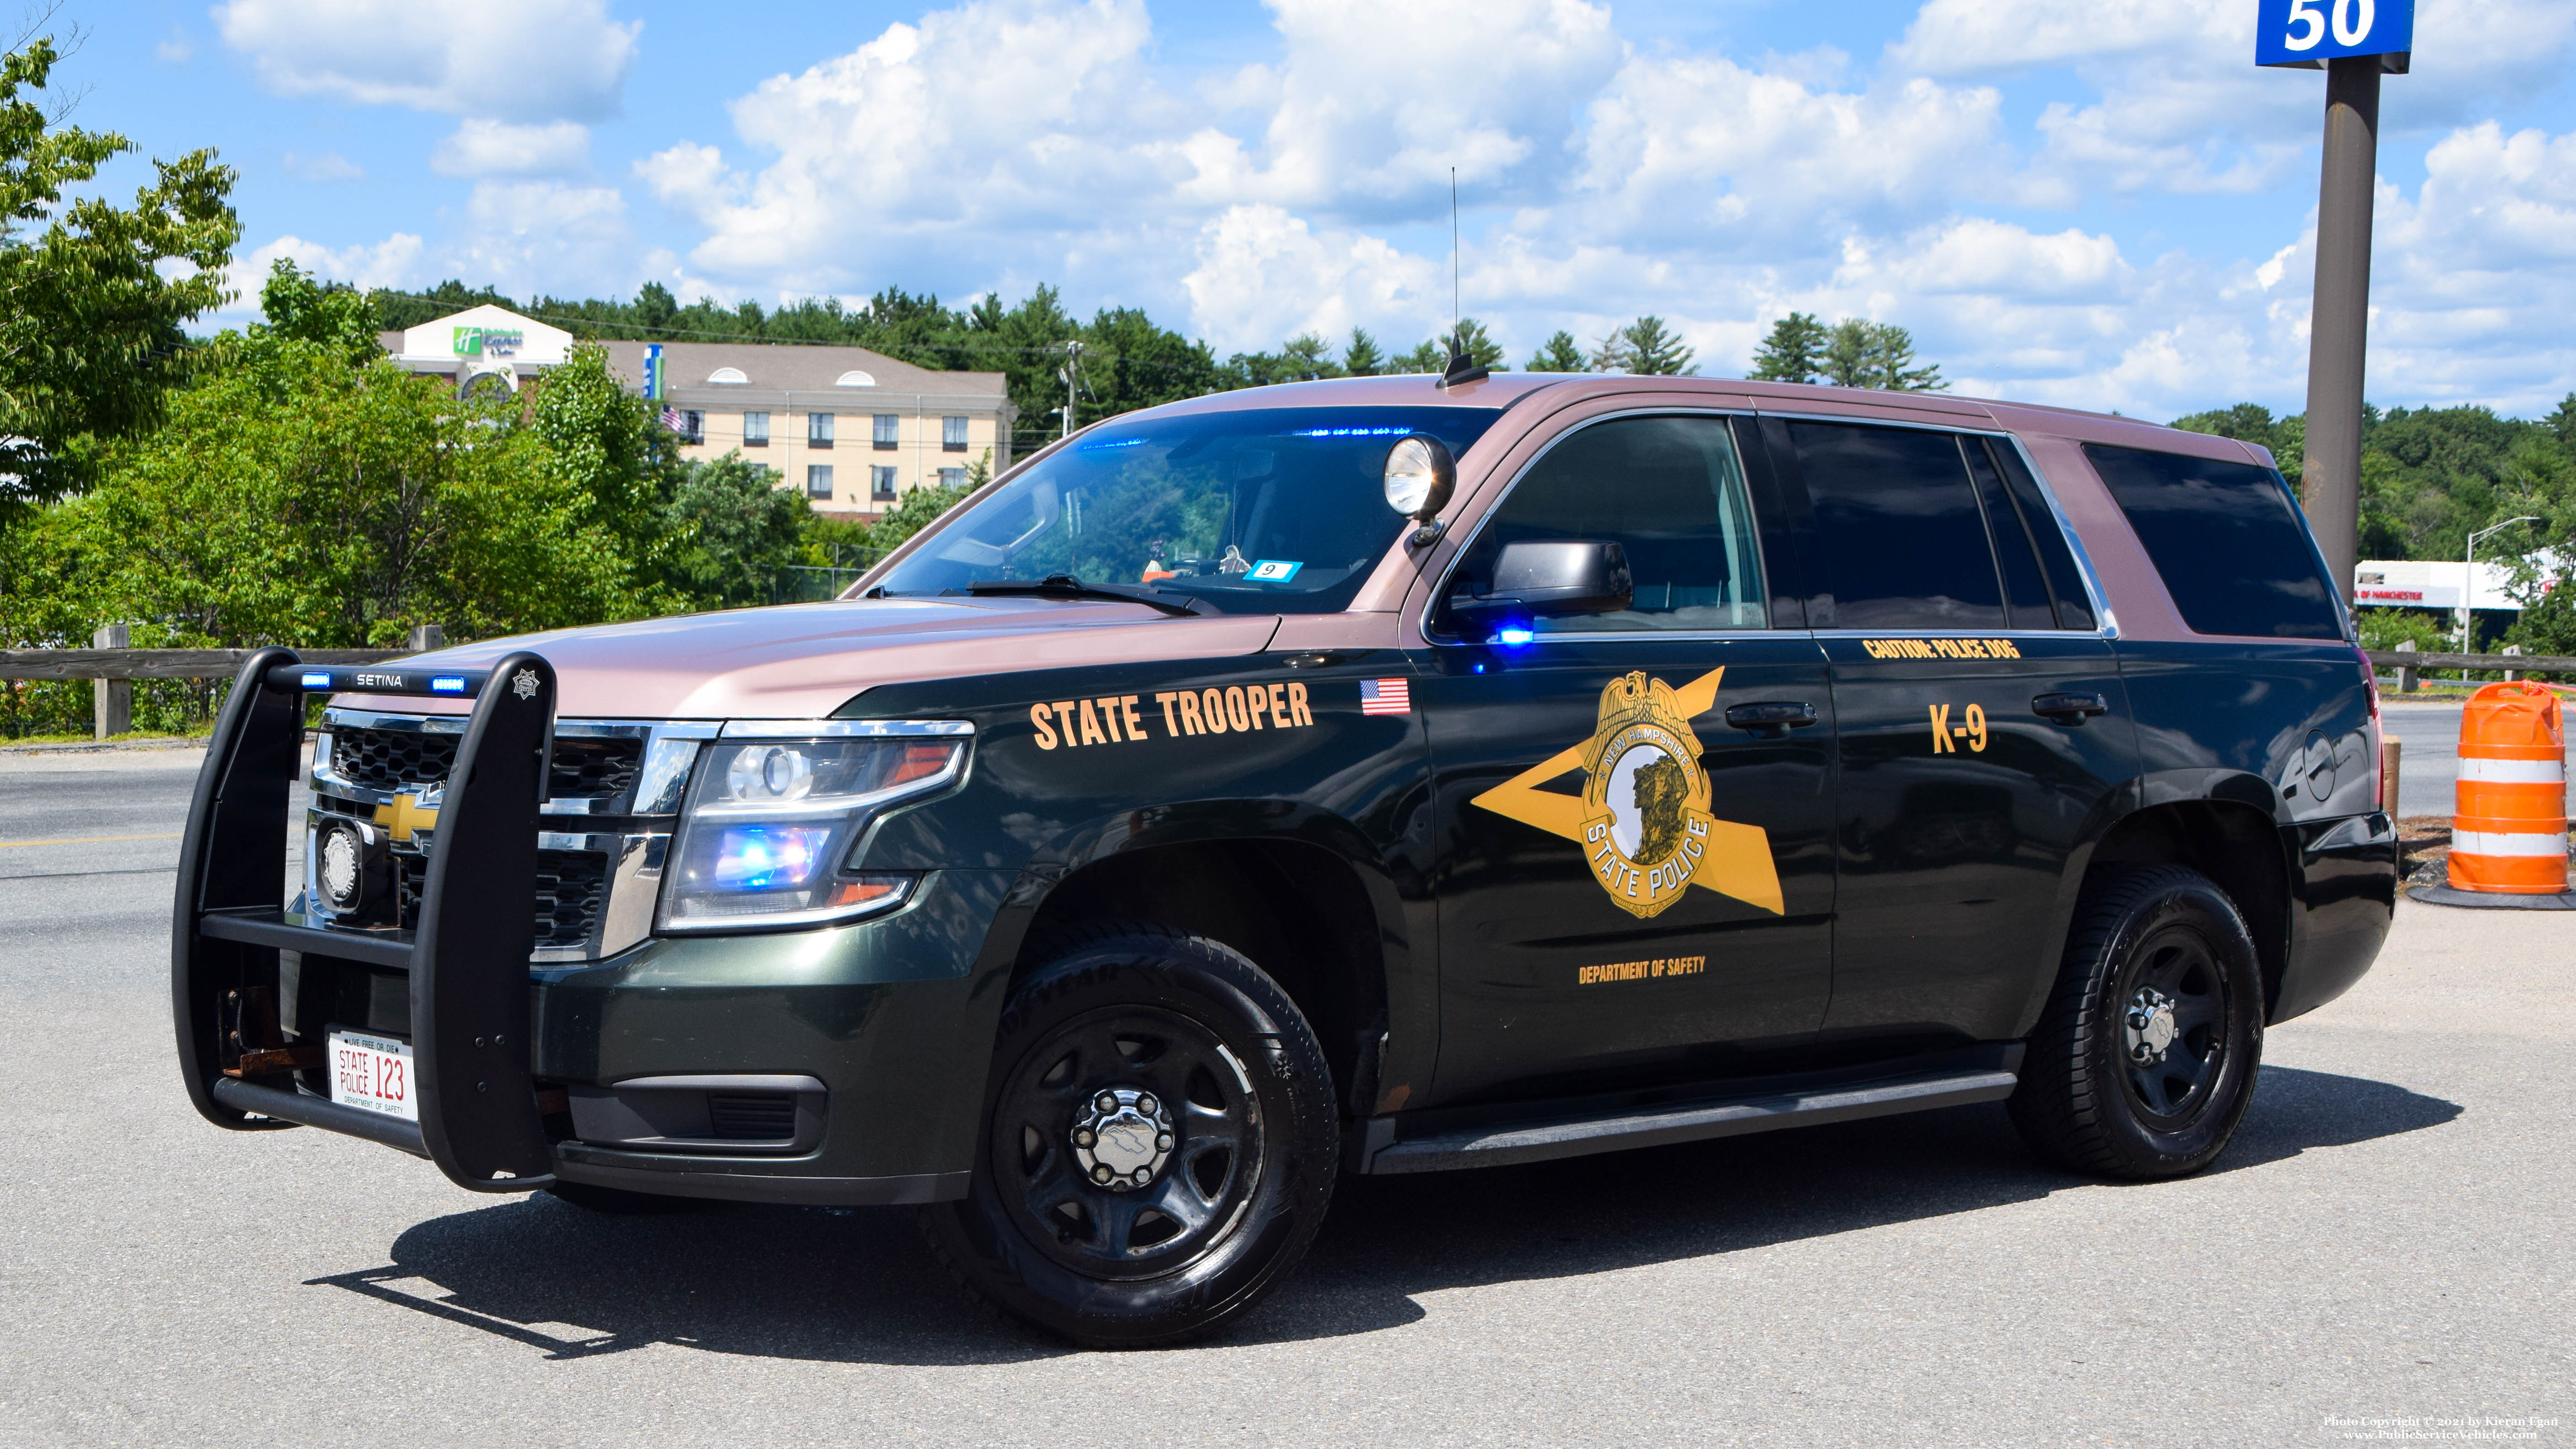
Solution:
M 605 0 L 229 0 L 224 44 L 281 95 L 500 121 L 600 121 L 644 23 Z

